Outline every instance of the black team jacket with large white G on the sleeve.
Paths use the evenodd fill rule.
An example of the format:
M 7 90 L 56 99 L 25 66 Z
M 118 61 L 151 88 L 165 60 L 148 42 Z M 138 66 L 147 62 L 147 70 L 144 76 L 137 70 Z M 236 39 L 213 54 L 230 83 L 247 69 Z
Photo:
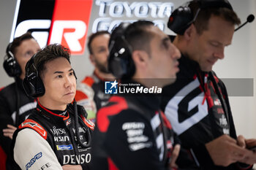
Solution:
M 179 63 L 176 82 L 163 89 L 161 108 L 182 146 L 201 169 L 240 169 L 240 163 L 214 166 L 205 147 L 206 143 L 223 134 L 237 137 L 224 83 L 214 73 L 211 77 L 208 72 L 202 72 L 197 62 L 184 55 Z M 217 95 L 213 81 L 217 83 L 220 95 Z

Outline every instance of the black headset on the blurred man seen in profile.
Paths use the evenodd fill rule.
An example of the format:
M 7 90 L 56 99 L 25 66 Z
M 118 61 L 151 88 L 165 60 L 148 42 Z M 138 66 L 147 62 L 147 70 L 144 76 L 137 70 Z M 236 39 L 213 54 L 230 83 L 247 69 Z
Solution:
M 125 33 L 129 23 L 121 23 L 116 27 L 108 45 L 108 70 L 116 78 L 129 78 L 135 73 L 135 63 L 132 60 L 132 47 L 127 42 Z

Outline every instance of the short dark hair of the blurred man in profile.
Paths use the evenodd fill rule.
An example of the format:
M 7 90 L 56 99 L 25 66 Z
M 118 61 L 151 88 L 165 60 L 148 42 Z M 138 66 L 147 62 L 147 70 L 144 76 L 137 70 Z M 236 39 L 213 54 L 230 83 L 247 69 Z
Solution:
M 149 20 L 138 20 L 127 27 L 124 37 L 132 46 L 132 50 L 146 50 L 150 53 L 149 42 L 153 34 L 146 29 L 150 26 L 154 26 L 154 23 Z

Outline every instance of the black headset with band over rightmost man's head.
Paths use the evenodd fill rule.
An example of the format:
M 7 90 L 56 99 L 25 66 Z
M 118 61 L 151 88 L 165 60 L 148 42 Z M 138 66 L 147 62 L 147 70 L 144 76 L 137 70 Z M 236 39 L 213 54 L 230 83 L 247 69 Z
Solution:
M 193 15 L 192 9 L 189 8 L 189 5 L 192 3 L 198 3 L 199 7 Z M 197 15 L 200 12 L 200 9 L 205 8 L 220 8 L 225 7 L 227 9 L 233 10 L 233 7 L 227 0 L 194 0 L 189 1 L 186 5 L 178 7 L 175 9 L 167 23 L 167 27 L 170 28 L 173 32 L 179 35 L 183 35 L 184 32 L 189 28 L 189 26 L 195 22 Z

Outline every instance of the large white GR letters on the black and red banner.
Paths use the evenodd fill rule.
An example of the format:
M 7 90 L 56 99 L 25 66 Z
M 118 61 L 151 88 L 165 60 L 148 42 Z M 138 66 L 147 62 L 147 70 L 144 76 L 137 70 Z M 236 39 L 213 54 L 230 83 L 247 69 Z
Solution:
M 16 31 L 15 37 L 21 36 L 29 30 L 40 30 L 32 31 L 32 36 L 37 39 L 40 47 L 45 47 L 45 45 L 63 42 L 67 43 L 67 47 L 71 53 L 79 54 L 83 52 L 83 47 L 85 40 L 80 42 L 86 35 L 86 23 L 83 20 L 54 20 L 53 27 L 51 30 L 51 35 L 49 36 L 48 31 L 41 31 L 42 29 L 49 29 L 51 20 L 24 20 L 19 23 Z

